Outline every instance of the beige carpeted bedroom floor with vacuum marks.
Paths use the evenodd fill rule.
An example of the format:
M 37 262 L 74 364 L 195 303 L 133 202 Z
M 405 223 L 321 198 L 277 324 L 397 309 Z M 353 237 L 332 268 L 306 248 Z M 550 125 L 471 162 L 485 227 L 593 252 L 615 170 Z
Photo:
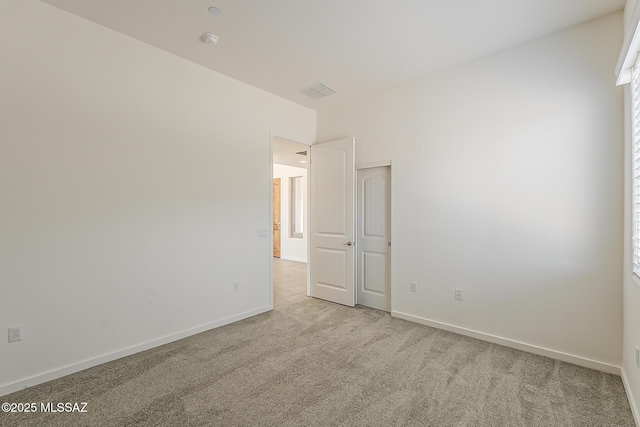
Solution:
M 634 426 L 619 377 L 312 298 L 0 397 L 2 426 Z

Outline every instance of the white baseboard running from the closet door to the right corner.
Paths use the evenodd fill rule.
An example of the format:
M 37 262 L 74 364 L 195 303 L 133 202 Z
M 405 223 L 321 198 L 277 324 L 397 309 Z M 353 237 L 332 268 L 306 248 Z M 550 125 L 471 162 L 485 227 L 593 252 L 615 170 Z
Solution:
M 443 329 L 449 332 L 455 332 L 460 335 L 465 335 L 472 338 L 477 338 L 482 341 L 488 341 L 494 344 L 500 344 L 505 347 L 515 348 L 517 350 L 526 351 L 529 353 L 537 354 L 540 356 L 550 357 L 552 359 L 561 360 L 563 362 L 572 363 L 574 365 L 583 366 L 585 368 L 591 368 L 609 374 L 620 376 L 621 370 L 619 366 L 609 365 L 608 363 L 598 362 L 596 360 L 586 359 L 584 357 L 576 356 L 573 354 L 563 353 L 561 351 L 551 350 L 536 345 L 526 344 L 520 341 L 514 341 L 508 338 L 502 338 L 484 332 L 474 331 L 472 329 L 461 328 L 459 326 L 450 325 L 447 323 L 438 322 L 435 320 L 425 319 L 423 317 L 414 316 L 412 314 L 401 313 L 399 311 L 392 311 L 391 315 L 399 319 L 408 320 L 410 322 L 420 323 L 422 325 L 431 326 L 437 329 Z

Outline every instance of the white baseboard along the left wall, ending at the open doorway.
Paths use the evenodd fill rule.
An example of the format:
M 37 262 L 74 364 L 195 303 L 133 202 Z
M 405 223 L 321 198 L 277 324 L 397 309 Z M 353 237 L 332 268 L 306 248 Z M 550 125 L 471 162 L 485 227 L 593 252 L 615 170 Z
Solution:
M 93 366 L 101 365 L 103 363 L 111 362 L 116 359 L 120 359 L 122 357 L 131 356 L 132 354 L 139 353 L 141 351 L 149 350 L 154 347 L 158 347 L 164 344 L 168 344 L 173 341 L 180 340 L 182 338 L 189 337 L 191 335 L 199 334 L 201 332 L 208 331 L 210 329 L 215 329 L 220 326 L 228 325 L 229 323 L 237 322 L 242 319 L 246 319 L 248 317 L 252 317 L 261 313 L 265 313 L 267 311 L 272 310 L 272 307 L 266 306 L 261 307 L 255 310 L 246 311 L 244 313 L 236 314 L 233 316 L 225 317 L 224 319 L 217 320 L 215 322 L 207 323 L 204 325 L 196 326 L 195 328 L 190 328 L 181 332 L 177 332 L 171 335 L 166 335 L 161 338 L 157 338 L 151 341 L 147 341 L 141 344 L 137 344 L 131 347 L 127 347 L 122 350 L 114 351 L 112 353 L 107 353 L 102 356 L 93 357 L 91 359 L 84 360 L 82 362 L 74 363 L 72 365 L 67 365 L 58 369 L 54 369 L 48 372 L 44 372 L 41 374 L 37 374 L 13 383 L 3 384 L 0 386 L 0 396 L 4 396 L 9 393 L 14 393 L 16 391 L 33 387 L 38 384 L 45 383 L 47 381 L 55 380 L 57 378 L 64 377 L 66 375 L 74 374 L 76 372 L 83 371 L 85 369 L 91 368 Z

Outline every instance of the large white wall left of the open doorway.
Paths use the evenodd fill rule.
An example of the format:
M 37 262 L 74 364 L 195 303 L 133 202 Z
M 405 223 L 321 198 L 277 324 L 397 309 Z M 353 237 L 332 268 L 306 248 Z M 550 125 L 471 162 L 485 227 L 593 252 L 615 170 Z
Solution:
M 270 132 L 315 112 L 35 0 L 0 55 L 0 394 L 270 309 Z

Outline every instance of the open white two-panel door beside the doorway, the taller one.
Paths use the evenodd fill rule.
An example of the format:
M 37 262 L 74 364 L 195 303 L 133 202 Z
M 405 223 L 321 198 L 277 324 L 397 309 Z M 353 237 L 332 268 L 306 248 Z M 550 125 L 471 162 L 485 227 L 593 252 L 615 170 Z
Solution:
M 355 138 L 310 147 L 311 296 L 355 305 Z

